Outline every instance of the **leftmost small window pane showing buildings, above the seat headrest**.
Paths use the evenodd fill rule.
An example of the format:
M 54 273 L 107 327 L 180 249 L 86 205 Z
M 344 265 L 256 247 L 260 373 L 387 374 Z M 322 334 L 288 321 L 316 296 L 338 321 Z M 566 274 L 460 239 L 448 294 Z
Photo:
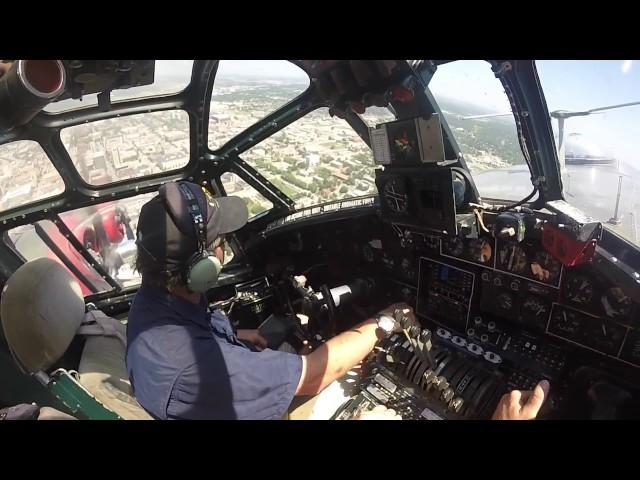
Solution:
M 37 142 L 19 140 L 0 145 L 0 211 L 62 192 L 62 177 Z

